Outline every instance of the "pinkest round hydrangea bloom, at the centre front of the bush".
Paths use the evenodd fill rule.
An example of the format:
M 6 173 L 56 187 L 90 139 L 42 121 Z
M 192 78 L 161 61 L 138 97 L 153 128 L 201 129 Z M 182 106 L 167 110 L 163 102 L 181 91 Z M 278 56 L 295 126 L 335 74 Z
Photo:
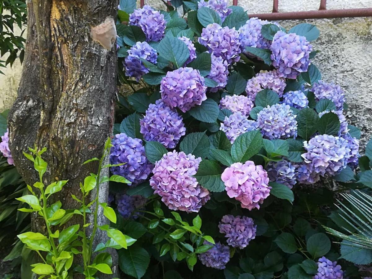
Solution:
M 253 161 L 232 164 L 224 170 L 221 179 L 227 195 L 240 201 L 242 208 L 260 209 L 260 204 L 270 195 L 267 172 Z

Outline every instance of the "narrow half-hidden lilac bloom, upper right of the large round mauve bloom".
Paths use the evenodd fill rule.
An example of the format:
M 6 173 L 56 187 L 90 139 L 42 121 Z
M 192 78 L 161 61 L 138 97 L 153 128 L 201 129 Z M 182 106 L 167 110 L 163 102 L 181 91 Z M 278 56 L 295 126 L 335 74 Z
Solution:
M 210 92 L 217 92 L 219 89 L 225 88 L 227 84 L 227 76 L 229 74 L 228 63 L 222 57 L 215 57 L 211 54 L 212 66 L 211 73 L 207 76 L 211 80 L 217 82 L 217 87 L 209 88 Z

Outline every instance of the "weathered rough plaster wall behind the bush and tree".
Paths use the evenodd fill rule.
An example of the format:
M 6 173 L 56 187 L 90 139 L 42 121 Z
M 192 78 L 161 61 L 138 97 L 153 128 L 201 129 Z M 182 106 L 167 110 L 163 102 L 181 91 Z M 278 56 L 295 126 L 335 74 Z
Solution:
M 232 2 L 232 0 L 231 0 Z M 279 11 L 316 10 L 320 0 L 280 0 Z M 328 0 L 327 9 L 371 7 L 371 0 Z M 158 9 L 164 9 L 160 0 L 147 0 Z M 267 13 L 272 0 L 239 0 L 248 13 Z M 320 38 L 314 42 L 321 52 L 314 63 L 320 68 L 325 81 L 340 84 L 346 92 L 350 124 L 362 129 L 362 144 L 372 134 L 372 18 L 316 19 L 280 21 L 286 28 L 301 22 L 317 25 Z M 0 76 L 0 111 L 9 108 L 15 99 L 20 65 L 15 64 Z

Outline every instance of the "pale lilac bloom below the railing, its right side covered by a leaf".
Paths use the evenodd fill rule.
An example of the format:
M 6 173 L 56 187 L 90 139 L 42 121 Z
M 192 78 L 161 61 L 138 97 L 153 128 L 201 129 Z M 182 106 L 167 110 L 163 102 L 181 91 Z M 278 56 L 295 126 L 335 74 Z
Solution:
M 273 22 L 261 20 L 258 17 L 248 19 L 246 24 L 238 30 L 241 51 L 244 52 L 246 47 L 269 48 L 271 41 L 265 39 L 261 33 L 262 26 L 269 23 Z

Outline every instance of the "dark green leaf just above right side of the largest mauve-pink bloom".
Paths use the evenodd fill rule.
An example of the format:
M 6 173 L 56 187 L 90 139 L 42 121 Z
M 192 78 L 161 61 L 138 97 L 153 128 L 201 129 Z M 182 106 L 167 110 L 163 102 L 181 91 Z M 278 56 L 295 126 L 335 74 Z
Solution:
M 180 144 L 180 150 L 195 157 L 205 158 L 209 153 L 209 146 L 205 132 L 196 132 L 186 135 Z

